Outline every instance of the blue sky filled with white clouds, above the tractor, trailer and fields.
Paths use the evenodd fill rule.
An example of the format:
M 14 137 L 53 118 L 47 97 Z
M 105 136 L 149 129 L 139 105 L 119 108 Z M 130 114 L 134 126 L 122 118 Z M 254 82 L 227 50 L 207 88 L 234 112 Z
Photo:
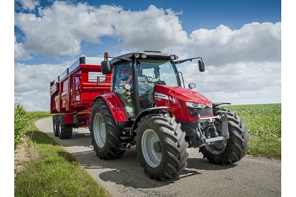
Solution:
M 280 0 L 15 0 L 14 11 L 14 97 L 26 110 L 49 110 L 49 82 L 78 57 L 119 50 L 201 56 L 204 73 L 194 61 L 179 70 L 215 102 L 281 102 Z

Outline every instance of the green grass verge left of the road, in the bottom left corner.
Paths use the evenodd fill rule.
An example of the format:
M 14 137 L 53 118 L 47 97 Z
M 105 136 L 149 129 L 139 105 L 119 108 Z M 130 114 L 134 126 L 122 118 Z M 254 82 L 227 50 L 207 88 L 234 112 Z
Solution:
M 15 177 L 15 197 L 108 197 L 74 157 L 28 122 L 30 161 Z

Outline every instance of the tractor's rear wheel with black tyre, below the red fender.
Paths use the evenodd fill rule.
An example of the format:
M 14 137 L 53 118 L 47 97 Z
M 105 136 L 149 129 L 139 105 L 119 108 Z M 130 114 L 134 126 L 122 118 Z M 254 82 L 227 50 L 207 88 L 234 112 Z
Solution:
M 101 159 L 121 157 L 119 131 L 105 100 L 96 101 L 91 109 L 89 131 L 94 151 Z

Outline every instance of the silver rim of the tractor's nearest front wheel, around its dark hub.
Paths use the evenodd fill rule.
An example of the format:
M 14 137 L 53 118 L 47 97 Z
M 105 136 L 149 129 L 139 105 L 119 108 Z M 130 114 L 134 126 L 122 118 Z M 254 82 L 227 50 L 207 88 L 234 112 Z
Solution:
M 151 167 L 157 167 L 161 162 L 161 152 L 157 153 L 154 150 L 154 143 L 158 142 L 159 138 L 153 130 L 146 130 L 142 136 L 142 152 L 147 164 Z

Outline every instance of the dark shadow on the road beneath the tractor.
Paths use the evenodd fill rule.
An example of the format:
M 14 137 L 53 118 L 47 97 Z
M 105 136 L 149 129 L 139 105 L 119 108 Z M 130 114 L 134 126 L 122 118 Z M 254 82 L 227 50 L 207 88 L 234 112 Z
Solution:
M 140 160 L 135 147 L 131 147 L 131 150 L 125 152 L 122 157 L 114 160 L 101 160 L 94 151 L 72 153 L 72 155 L 86 170 L 104 169 L 103 172 L 100 172 L 99 177 L 105 182 L 110 181 L 124 187 L 142 189 L 163 187 L 189 176 L 198 176 L 202 174 L 202 170 L 222 170 L 235 166 L 235 164 L 215 165 L 210 164 L 205 159 L 188 158 L 187 167 L 179 177 L 166 181 L 156 181 L 150 179 L 148 174 L 144 173 L 144 169 L 140 167 Z

